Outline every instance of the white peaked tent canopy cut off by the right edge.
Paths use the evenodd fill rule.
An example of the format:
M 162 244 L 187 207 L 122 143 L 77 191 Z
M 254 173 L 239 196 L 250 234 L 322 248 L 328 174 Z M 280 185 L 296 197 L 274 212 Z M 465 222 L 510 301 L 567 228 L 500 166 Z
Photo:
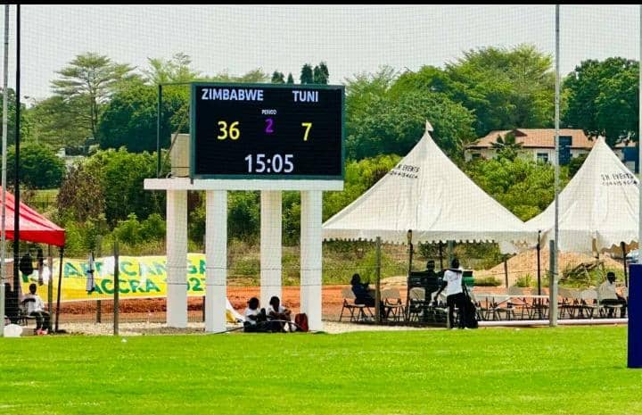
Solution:
M 560 251 L 599 253 L 638 241 L 638 180 L 603 138 L 560 193 L 558 218 Z M 526 226 L 553 239 L 555 202 Z

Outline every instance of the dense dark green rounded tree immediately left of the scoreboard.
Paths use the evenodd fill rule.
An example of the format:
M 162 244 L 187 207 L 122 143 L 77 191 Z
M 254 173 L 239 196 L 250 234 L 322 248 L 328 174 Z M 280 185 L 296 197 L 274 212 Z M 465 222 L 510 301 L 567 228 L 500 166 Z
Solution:
M 156 150 L 158 90 L 138 85 L 117 92 L 106 105 L 98 124 L 102 148 L 126 146 L 131 152 Z M 163 87 L 161 147 L 169 147 L 169 136 L 189 128 L 189 90 Z

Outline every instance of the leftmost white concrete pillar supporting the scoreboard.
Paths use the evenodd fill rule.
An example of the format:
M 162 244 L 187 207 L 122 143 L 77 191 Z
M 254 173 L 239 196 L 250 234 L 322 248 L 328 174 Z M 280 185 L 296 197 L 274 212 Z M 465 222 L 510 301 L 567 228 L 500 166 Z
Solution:
M 187 327 L 187 191 L 167 192 L 167 324 Z

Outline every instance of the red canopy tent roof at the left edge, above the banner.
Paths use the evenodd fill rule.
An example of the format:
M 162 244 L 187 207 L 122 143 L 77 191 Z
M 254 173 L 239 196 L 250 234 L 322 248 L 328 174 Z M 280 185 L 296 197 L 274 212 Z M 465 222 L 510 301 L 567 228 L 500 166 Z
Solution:
M 0 187 L 2 192 L 2 187 Z M 6 239 L 13 238 L 13 195 L 5 193 L 6 198 Z M 0 199 L 0 206 L 2 200 Z M 20 209 L 20 232 L 18 235 L 21 241 L 37 242 L 40 244 L 64 246 L 65 234 L 64 229 L 46 219 L 40 213 L 31 209 L 28 205 L 21 202 Z

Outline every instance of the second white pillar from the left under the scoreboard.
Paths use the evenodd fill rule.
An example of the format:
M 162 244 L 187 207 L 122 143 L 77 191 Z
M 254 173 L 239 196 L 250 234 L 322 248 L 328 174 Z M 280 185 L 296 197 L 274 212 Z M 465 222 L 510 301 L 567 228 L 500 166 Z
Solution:
M 227 191 L 208 190 L 205 201 L 205 331 L 226 330 Z

